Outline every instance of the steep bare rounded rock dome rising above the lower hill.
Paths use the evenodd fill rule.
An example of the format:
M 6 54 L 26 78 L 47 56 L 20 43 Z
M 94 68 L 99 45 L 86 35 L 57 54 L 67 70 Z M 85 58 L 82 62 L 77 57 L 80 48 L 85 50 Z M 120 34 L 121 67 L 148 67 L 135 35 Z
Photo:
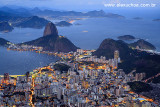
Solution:
M 48 36 L 48 35 L 58 37 L 58 30 L 52 22 L 49 22 L 46 25 L 45 30 L 44 30 L 43 36 Z

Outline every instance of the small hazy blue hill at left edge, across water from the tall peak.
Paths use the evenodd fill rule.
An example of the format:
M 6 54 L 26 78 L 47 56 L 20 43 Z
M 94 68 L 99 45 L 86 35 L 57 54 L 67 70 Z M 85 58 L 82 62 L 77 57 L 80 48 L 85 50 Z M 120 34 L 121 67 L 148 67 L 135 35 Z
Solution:
M 11 32 L 14 28 L 8 22 L 0 22 L 0 32 Z

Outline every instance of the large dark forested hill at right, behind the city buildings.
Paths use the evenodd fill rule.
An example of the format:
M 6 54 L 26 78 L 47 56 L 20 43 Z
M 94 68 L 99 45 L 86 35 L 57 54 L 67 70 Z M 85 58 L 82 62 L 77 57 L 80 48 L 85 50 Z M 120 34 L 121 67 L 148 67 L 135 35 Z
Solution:
M 160 55 L 133 50 L 122 41 L 105 39 L 93 54 L 98 57 L 106 56 L 109 59 L 113 58 L 115 50 L 119 51 L 122 61 L 118 68 L 124 69 L 125 73 L 130 73 L 132 70 L 136 70 L 137 73 L 145 72 L 146 78 L 160 73 Z

